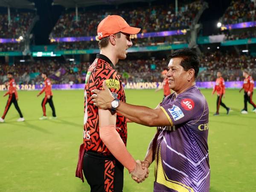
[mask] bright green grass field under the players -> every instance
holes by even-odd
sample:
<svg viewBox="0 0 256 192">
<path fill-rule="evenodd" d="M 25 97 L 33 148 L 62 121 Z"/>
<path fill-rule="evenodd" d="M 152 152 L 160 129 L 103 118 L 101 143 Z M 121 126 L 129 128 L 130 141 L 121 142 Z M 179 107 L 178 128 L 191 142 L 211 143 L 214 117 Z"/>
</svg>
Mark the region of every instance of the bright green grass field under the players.
<svg viewBox="0 0 256 192">
<path fill-rule="evenodd" d="M 243 94 L 227 90 L 223 102 L 233 110 L 227 116 L 215 112 L 216 95 L 202 90 L 209 105 L 209 158 L 211 192 L 256 191 L 256 113 L 240 114 Z M 53 101 L 58 119 L 43 120 L 38 92 L 19 91 L 19 105 L 25 122 L 12 106 L 6 122 L 0 124 L 0 191 L 4 192 L 89 192 L 88 184 L 75 177 L 83 133 L 83 90 L 55 90 Z M 0 92 L 2 95 L 3 92 Z M 162 93 L 154 90 L 126 90 L 127 102 L 154 108 Z M 2 115 L 7 98 L 0 97 Z M 254 95 L 254 101 L 256 96 Z M 252 106 L 249 105 L 248 111 Z M 47 105 L 47 115 L 51 115 Z M 128 125 L 128 150 L 143 159 L 155 128 Z M 140 184 L 125 170 L 124 192 L 153 191 L 154 165 L 149 178 Z"/>
</svg>

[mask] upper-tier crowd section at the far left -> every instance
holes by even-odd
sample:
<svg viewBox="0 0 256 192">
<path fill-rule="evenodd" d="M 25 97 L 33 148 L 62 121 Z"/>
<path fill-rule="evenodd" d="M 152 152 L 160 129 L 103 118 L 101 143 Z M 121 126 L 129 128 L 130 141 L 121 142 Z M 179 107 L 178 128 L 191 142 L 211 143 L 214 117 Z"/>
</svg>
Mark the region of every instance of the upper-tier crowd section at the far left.
<svg viewBox="0 0 256 192">
<path fill-rule="evenodd" d="M 0 14 L 0 37 L 24 37 L 34 17 L 35 14 L 32 12 L 11 12 L 11 22 L 9 25 L 8 14 Z"/>
</svg>

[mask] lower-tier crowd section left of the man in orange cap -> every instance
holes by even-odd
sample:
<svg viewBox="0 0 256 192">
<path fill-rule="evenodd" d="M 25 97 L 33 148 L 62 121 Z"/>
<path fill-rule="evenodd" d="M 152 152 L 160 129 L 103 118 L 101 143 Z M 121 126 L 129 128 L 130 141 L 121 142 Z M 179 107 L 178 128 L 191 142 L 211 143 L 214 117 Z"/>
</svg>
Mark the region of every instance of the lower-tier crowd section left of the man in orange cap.
<svg viewBox="0 0 256 192">
<path fill-rule="evenodd" d="M 7 81 L 8 72 L 14 73 L 17 84 L 41 84 L 40 74 L 48 73 L 54 84 L 83 83 L 88 63 L 73 64 L 57 60 L 33 61 L 29 63 L 15 63 L 13 65 L 0 64 L 0 84 Z"/>
</svg>

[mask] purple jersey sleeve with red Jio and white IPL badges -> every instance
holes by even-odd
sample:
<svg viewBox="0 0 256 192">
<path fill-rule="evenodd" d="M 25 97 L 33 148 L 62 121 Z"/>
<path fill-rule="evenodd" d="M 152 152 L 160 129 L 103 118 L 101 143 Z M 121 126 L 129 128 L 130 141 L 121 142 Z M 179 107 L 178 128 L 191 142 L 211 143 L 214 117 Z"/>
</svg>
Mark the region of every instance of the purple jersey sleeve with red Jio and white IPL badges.
<svg viewBox="0 0 256 192">
<path fill-rule="evenodd" d="M 189 122 L 192 119 L 200 119 L 204 113 L 204 103 L 192 96 L 180 96 L 173 102 L 160 106 L 171 126 Z"/>
</svg>

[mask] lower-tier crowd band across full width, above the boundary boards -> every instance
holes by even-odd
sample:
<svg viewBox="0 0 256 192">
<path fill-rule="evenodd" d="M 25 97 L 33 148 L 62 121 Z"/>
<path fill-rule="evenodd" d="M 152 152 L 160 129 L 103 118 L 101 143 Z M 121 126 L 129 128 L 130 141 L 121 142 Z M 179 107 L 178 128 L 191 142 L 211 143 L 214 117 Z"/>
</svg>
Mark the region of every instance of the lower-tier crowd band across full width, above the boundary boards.
<svg viewBox="0 0 256 192">
<path fill-rule="evenodd" d="M 230 53 L 207 53 L 201 56 L 201 67 L 197 81 L 215 81 L 216 73 L 221 71 L 225 81 L 242 81 L 241 69 L 250 69 L 256 79 L 256 58 L 249 55 Z M 8 71 L 14 72 L 18 84 L 40 84 L 39 75 L 47 71 L 55 84 L 84 83 L 90 62 L 75 64 L 70 61 L 39 60 L 29 64 L 0 64 L 0 84 L 3 84 Z M 116 65 L 124 82 L 162 81 L 161 71 L 166 69 L 167 61 L 159 59 L 120 60 Z M 61 72 L 60 72 L 61 71 Z M 59 73 L 59 74 L 58 74 Z"/>
</svg>

